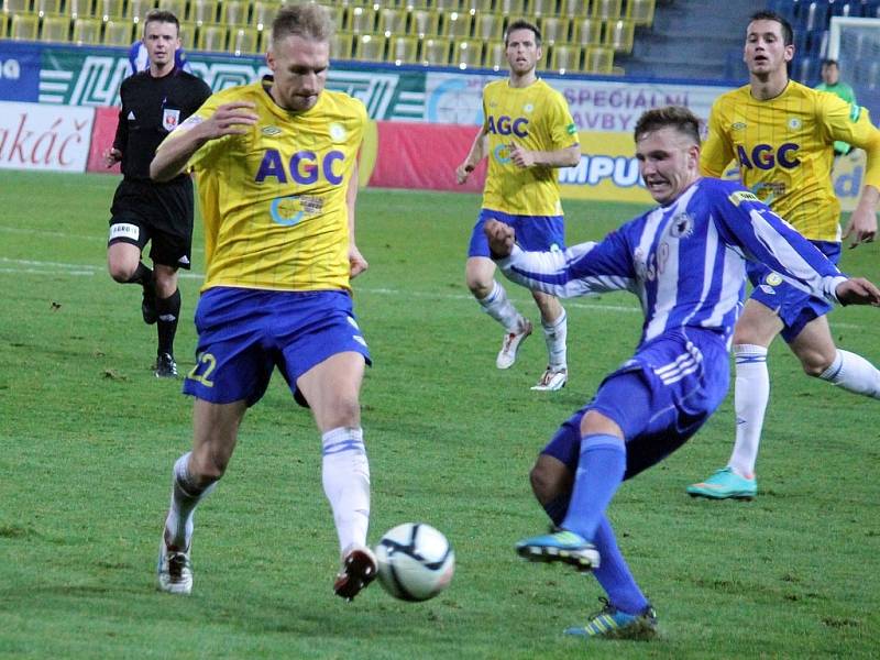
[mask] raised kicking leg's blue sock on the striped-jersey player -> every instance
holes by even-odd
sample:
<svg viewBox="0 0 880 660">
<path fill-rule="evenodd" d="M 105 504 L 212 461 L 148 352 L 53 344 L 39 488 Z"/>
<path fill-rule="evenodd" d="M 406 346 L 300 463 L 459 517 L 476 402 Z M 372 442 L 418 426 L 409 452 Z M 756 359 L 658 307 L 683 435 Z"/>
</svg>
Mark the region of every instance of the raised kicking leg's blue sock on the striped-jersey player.
<svg viewBox="0 0 880 660">
<path fill-rule="evenodd" d="M 581 458 L 562 527 L 592 541 L 605 509 L 626 472 L 626 444 L 622 438 L 584 436 Z"/>
</svg>

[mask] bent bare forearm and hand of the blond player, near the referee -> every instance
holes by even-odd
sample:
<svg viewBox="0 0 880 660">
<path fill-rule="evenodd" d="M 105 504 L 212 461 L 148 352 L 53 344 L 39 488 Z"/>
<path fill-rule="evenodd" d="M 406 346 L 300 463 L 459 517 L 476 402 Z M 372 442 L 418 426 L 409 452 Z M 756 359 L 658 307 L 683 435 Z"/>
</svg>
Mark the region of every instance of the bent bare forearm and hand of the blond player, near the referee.
<svg viewBox="0 0 880 660">
<path fill-rule="evenodd" d="M 186 169 L 189 158 L 206 142 L 224 135 L 245 134 L 258 119 L 255 113 L 249 112 L 254 108 L 256 106 L 250 101 L 226 103 L 209 119 L 186 129 L 182 135 L 163 142 L 150 164 L 150 178 L 156 182 L 170 180 Z"/>
</svg>

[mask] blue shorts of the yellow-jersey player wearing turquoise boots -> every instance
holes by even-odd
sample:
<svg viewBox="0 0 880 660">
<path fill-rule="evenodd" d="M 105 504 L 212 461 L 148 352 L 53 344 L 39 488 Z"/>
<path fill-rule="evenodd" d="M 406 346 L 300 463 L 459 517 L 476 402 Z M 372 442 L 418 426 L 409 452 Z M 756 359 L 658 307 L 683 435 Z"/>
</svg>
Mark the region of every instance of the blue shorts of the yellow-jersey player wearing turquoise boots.
<svg viewBox="0 0 880 660">
<path fill-rule="evenodd" d="M 840 243 L 828 241 L 810 241 L 820 252 L 828 257 L 833 264 L 840 261 Z M 746 272 L 755 289 L 750 298 L 765 307 L 769 307 L 779 315 L 784 324 L 782 339 L 791 343 L 810 321 L 828 314 L 834 305 L 822 298 L 805 294 L 794 288 L 780 275 L 773 273 L 763 264 L 748 262 Z"/>
</svg>

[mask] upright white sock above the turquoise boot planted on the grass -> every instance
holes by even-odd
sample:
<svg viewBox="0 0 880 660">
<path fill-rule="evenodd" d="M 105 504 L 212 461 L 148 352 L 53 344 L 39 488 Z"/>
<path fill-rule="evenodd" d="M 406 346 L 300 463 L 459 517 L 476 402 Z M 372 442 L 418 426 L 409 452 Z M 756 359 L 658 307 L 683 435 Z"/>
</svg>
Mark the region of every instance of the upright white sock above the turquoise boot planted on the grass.
<svg viewBox="0 0 880 660">
<path fill-rule="evenodd" d="M 752 477 L 761 442 L 763 416 L 770 399 L 770 374 L 767 371 L 767 349 L 752 344 L 734 346 L 736 380 L 736 443 L 727 464 L 739 476 Z"/>
</svg>

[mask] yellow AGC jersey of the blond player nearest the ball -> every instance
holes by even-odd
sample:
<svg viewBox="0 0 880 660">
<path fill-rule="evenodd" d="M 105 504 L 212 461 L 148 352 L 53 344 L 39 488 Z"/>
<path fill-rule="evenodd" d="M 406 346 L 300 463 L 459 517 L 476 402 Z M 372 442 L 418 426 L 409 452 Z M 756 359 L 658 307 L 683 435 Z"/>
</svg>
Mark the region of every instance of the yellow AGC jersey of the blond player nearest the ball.
<svg viewBox="0 0 880 660">
<path fill-rule="evenodd" d="M 205 221 L 201 290 L 350 290 L 345 194 L 366 109 L 324 90 L 314 108 L 293 113 L 272 100 L 270 86 L 267 77 L 215 94 L 168 135 L 232 101 L 252 101 L 260 118 L 246 134 L 211 140 L 189 161 Z"/>
</svg>

